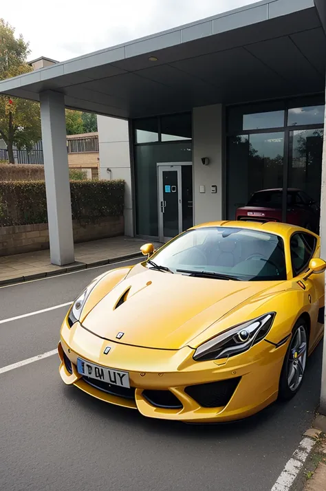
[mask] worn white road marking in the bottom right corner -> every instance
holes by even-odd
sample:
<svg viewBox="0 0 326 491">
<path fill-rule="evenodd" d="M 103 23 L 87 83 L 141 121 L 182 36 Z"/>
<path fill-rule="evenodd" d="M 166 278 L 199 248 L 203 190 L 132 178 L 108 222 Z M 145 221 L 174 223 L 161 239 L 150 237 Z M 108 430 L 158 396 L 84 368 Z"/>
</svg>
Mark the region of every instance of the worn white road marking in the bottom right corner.
<svg viewBox="0 0 326 491">
<path fill-rule="evenodd" d="M 309 437 L 304 437 L 301 440 L 298 448 L 293 453 L 291 459 L 287 461 L 285 468 L 279 475 L 279 479 L 277 479 L 271 491 L 290 490 L 294 483 L 294 479 L 296 479 L 309 453 L 312 451 L 312 448 L 314 448 L 315 443 L 316 441 Z"/>
</svg>

